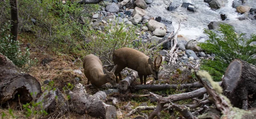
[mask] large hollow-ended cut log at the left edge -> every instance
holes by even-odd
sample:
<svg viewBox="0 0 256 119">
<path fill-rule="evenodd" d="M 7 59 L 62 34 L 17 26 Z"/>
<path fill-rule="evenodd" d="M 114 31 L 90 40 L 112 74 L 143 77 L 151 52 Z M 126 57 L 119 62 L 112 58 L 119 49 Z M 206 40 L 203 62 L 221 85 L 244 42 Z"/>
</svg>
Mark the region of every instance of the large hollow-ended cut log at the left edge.
<svg viewBox="0 0 256 119">
<path fill-rule="evenodd" d="M 36 78 L 29 74 L 21 73 L 12 61 L 0 53 L 1 104 L 10 100 L 18 102 L 18 99 L 22 104 L 26 104 L 41 93 L 41 85 Z"/>
</svg>

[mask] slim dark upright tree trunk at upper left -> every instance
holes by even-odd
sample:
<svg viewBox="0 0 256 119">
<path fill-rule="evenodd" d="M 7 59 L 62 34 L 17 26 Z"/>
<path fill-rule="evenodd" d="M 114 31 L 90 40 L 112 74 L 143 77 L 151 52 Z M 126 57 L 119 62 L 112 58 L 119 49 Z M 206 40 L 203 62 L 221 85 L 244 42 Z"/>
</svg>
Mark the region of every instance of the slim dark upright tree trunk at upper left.
<svg viewBox="0 0 256 119">
<path fill-rule="evenodd" d="M 18 0 L 10 0 L 11 5 L 11 33 L 13 35 L 12 40 L 17 41 L 18 29 L 19 29 L 19 15 L 18 15 Z"/>
</svg>

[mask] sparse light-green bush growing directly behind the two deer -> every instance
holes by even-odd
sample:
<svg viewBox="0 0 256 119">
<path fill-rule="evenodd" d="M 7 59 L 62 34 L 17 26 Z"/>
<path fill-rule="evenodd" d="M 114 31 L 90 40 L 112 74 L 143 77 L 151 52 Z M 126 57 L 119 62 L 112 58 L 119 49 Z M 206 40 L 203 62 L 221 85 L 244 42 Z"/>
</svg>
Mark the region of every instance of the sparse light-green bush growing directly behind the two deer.
<svg viewBox="0 0 256 119">
<path fill-rule="evenodd" d="M 87 54 L 99 57 L 102 64 L 112 64 L 112 54 L 115 49 L 132 47 L 132 41 L 137 38 L 136 27 L 124 24 L 105 26 L 101 31 L 96 29 L 84 30 L 87 42 Z"/>
</svg>

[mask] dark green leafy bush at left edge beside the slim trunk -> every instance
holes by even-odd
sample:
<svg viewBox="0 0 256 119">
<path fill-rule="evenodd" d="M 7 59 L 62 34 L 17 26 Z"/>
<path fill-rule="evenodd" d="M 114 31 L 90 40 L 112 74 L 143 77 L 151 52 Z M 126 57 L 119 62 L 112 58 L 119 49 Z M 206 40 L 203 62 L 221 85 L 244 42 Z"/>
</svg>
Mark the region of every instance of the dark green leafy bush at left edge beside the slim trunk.
<svg viewBox="0 0 256 119">
<path fill-rule="evenodd" d="M 10 23 L 3 23 L 0 27 L 0 53 L 9 58 L 16 66 L 22 67 L 25 64 L 30 66 L 35 62 L 29 58 L 29 48 L 25 48 L 22 52 L 19 41 L 10 41 L 12 35 L 10 33 Z"/>
</svg>

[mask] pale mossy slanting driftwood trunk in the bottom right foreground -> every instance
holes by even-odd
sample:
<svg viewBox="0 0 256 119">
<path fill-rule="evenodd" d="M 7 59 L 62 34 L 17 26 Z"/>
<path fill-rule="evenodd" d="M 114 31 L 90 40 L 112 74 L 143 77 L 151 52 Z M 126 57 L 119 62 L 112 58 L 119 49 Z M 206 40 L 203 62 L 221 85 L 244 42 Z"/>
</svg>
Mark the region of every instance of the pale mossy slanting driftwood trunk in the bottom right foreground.
<svg viewBox="0 0 256 119">
<path fill-rule="evenodd" d="M 221 119 L 254 119 L 256 115 L 256 110 L 242 110 L 237 107 L 233 107 L 230 101 L 222 95 L 222 88 L 212 80 L 211 75 L 206 71 L 195 71 L 195 75 L 198 77 L 201 84 L 207 90 L 209 97 L 212 102 L 215 103 L 215 106 L 218 110 L 221 111 L 222 116 Z M 204 116 L 198 116 L 199 119 L 206 119 Z M 216 119 L 215 116 L 213 118 L 207 119 Z M 217 117 L 218 118 L 218 117 Z M 219 119 L 219 118 L 218 118 Z"/>
</svg>

